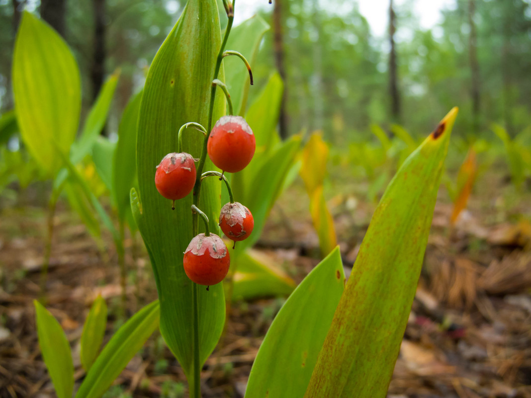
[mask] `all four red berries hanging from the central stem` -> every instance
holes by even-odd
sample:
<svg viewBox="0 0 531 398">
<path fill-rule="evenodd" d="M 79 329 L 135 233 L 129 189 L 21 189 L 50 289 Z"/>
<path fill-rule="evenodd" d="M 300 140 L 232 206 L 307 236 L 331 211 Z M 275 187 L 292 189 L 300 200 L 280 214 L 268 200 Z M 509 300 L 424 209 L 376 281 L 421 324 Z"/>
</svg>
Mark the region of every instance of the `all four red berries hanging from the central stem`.
<svg viewBox="0 0 531 398">
<path fill-rule="evenodd" d="M 207 142 L 210 160 L 224 172 L 243 170 L 253 158 L 255 147 L 256 140 L 249 124 L 243 117 L 232 115 L 218 120 Z M 157 166 L 155 186 L 162 196 L 175 202 L 192 192 L 196 178 L 191 154 L 168 153 Z M 234 242 L 244 240 L 253 230 L 253 216 L 243 204 L 231 200 L 221 209 L 219 226 Z M 190 241 L 183 263 L 188 278 L 209 286 L 225 278 L 230 257 L 224 241 L 207 229 Z"/>
</svg>

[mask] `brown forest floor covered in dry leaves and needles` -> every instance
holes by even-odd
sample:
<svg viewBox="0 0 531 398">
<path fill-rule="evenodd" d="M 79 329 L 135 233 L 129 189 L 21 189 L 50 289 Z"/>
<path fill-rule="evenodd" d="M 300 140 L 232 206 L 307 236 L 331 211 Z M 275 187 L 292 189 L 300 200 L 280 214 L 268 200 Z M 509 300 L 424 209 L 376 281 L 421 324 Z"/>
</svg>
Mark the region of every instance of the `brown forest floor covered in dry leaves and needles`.
<svg viewBox="0 0 531 398">
<path fill-rule="evenodd" d="M 500 195 L 495 187 L 503 184 L 498 179 L 476 187 L 469 210 L 451 229 L 452 206 L 441 188 L 389 397 L 531 398 L 531 224 L 519 217 L 531 214 L 531 201 L 512 200 L 507 184 L 503 189 L 509 194 Z M 297 204 L 290 200 L 295 195 L 301 197 Z M 375 204 L 352 194 L 333 197 L 329 204 L 348 274 Z M 302 187 L 288 189 L 258 244 L 297 282 L 319 261 L 307 205 Z M 55 396 L 38 347 L 32 302 L 39 296 L 44 207 L 27 203 L 0 209 L 0 398 Z M 54 223 L 47 308 L 71 343 L 79 385 L 84 376 L 79 341 L 93 299 L 100 294 L 107 300 L 108 340 L 125 317 L 157 294 L 140 238 L 126 239 L 124 310 L 112 240 L 104 236 L 107 247 L 98 247 L 62 202 Z M 203 368 L 205 398 L 243 397 L 256 352 L 284 300 L 233 304 L 226 333 Z M 158 332 L 106 395 L 127 396 L 187 396 L 183 371 Z"/>
</svg>

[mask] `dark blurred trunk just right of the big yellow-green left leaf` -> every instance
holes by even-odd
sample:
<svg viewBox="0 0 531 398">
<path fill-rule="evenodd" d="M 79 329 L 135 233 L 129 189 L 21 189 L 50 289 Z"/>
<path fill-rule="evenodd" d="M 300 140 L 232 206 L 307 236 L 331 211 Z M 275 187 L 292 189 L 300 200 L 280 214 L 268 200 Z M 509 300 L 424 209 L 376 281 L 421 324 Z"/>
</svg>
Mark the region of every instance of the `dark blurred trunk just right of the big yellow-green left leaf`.
<svg viewBox="0 0 531 398">
<path fill-rule="evenodd" d="M 94 58 L 92 59 L 92 99 L 98 97 L 105 77 L 105 0 L 92 0 L 94 9 Z"/>
</svg>

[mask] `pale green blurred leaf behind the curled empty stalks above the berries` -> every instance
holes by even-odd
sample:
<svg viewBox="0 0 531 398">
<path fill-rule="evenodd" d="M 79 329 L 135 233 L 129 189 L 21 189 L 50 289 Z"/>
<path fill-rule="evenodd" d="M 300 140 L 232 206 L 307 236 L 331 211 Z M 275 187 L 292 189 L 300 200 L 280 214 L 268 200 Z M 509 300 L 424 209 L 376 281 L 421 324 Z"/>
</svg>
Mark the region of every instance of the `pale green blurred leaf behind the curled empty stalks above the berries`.
<svg viewBox="0 0 531 398">
<path fill-rule="evenodd" d="M 268 23 L 260 15 L 255 15 L 230 31 L 225 49 L 238 51 L 247 59 L 252 68 L 256 54 L 258 54 L 260 41 L 268 30 Z M 236 115 L 243 116 L 245 114 L 247 93 L 250 88 L 249 72 L 247 72 L 242 60 L 236 56 L 225 57 L 223 65 L 225 68 L 225 84 L 229 90 L 234 111 Z"/>
</svg>

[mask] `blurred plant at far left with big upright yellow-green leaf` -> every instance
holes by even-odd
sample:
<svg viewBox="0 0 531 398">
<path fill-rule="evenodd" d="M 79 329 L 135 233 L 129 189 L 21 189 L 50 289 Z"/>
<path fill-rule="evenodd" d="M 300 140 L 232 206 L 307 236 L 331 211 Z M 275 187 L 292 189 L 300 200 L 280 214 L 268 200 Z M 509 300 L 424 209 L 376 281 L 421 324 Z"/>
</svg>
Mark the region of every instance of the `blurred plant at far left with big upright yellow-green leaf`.
<svg viewBox="0 0 531 398">
<path fill-rule="evenodd" d="M 41 45 L 42 40 L 47 42 L 46 47 Z M 24 12 L 13 56 L 16 119 L 32 159 L 48 178 L 54 179 L 48 201 L 47 239 L 41 269 L 43 298 L 55 207 L 57 198 L 65 187 L 73 208 L 81 215 L 89 231 L 99 233 L 99 225 L 90 217 L 93 213 L 99 214 L 112 233 L 118 251 L 121 250 L 121 242 L 113 223 L 74 166 L 89 153 L 105 124 L 117 79 L 118 75 L 114 74 L 105 83 L 85 120 L 79 140 L 74 141 L 81 109 L 78 65 L 64 40 L 48 24 Z"/>
</svg>

